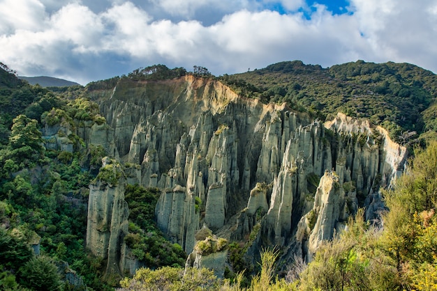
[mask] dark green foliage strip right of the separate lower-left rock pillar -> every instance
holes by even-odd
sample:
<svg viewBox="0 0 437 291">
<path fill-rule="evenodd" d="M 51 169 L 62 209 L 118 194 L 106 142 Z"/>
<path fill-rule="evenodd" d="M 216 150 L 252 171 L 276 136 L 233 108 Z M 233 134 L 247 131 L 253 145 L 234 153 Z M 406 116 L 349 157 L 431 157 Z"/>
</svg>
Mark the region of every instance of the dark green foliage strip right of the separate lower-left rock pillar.
<svg viewBox="0 0 437 291">
<path fill-rule="evenodd" d="M 124 241 L 136 258 L 147 267 L 183 267 L 186 253 L 179 244 L 172 244 L 161 233 L 154 221 L 158 189 L 126 185 L 125 200 L 129 205 L 129 234 Z"/>
</svg>

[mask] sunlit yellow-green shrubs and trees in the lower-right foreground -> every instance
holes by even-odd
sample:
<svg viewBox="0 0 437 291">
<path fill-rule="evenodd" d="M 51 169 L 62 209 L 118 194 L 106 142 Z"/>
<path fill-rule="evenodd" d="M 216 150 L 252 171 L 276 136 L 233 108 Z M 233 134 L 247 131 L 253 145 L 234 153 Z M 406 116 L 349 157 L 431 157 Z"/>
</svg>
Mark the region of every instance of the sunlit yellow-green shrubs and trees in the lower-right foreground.
<svg viewBox="0 0 437 291">
<path fill-rule="evenodd" d="M 434 142 L 416 153 L 408 175 L 399 178 L 395 189 L 385 192 L 390 210 L 383 215 L 384 228 L 364 221 L 364 210 L 360 209 L 355 219 L 348 222 L 348 231 L 320 246 L 313 261 L 299 269 L 293 281 L 274 278 L 278 253 L 264 251 L 260 273 L 251 278 L 249 287 L 242 288 L 239 274 L 235 283 L 228 280 L 221 283 L 222 290 L 436 290 L 436 178 L 437 143 Z M 242 251 L 242 246 L 234 243 L 230 248 L 231 260 Z M 177 272 L 168 269 L 165 274 Z M 141 277 L 142 273 L 147 276 Z M 211 280 L 220 282 L 214 277 Z M 133 288 L 135 283 L 135 288 L 154 290 L 159 283 L 172 290 L 172 284 L 184 282 L 181 275 L 170 280 L 159 270 L 142 269 L 133 279 L 125 278 L 121 284 Z M 199 290 L 204 290 L 197 284 Z"/>
</svg>

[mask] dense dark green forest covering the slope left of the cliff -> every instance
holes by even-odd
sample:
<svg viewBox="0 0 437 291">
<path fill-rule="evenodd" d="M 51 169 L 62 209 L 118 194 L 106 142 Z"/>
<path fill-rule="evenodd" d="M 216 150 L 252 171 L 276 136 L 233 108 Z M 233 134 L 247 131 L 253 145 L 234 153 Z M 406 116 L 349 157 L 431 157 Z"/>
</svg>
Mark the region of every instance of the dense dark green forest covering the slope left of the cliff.
<svg viewBox="0 0 437 291">
<path fill-rule="evenodd" d="M 107 290 L 101 263 L 84 249 L 87 193 L 93 177 L 80 165 L 86 152 L 83 143 L 73 134 L 68 139 L 77 143 L 75 152 L 42 146 L 40 122 L 74 129 L 69 113 L 75 112 L 77 102 L 14 76 L 2 80 L 0 111 L 8 113 L 0 112 L 0 127 L 7 129 L 0 134 L 0 289 L 72 290 L 60 281 L 56 267 L 64 260 L 90 288 Z M 18 114 L 23 112 L 26 115 Z M 39 244 L 40 256 L 34 255 L 30 244 Z"/>
</svg>

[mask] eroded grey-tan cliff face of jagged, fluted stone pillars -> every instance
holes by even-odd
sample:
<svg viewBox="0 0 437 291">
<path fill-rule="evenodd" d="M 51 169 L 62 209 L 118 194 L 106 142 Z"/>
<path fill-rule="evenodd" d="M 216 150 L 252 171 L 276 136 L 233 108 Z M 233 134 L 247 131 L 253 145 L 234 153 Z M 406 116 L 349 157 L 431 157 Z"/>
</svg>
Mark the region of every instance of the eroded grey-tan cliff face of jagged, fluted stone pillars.
<svg viewBox="0 0 437 291">
<path fill-rule="evenodd" d="M 158 226 L 187 253 L 203 223 L 228 239 L 244 239 L 260 223 L 256 246 L 311 256 L 357 207 L 378 216 L 378 189 L 406 160 L 382 128 L 342 114 L 324 125 L 285 105 L 238 97 L 212 79 L 121 79 L 91 95 L 109 127 L 87 140 L 126 163 L 125 182 L 162 190 Z M 124 215 L 91 209 L 108 196 L 97 191 L 108 189 L 91 188 L 89 217 Z M 110 240 L 98 239 L 87 244 L 99 249 Z"/>
</svg>

